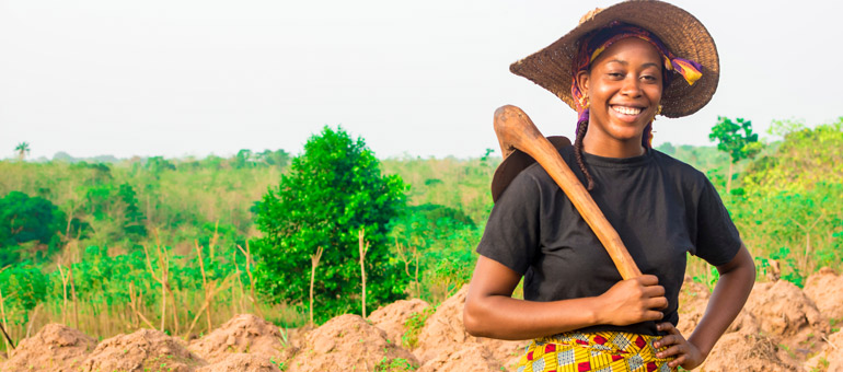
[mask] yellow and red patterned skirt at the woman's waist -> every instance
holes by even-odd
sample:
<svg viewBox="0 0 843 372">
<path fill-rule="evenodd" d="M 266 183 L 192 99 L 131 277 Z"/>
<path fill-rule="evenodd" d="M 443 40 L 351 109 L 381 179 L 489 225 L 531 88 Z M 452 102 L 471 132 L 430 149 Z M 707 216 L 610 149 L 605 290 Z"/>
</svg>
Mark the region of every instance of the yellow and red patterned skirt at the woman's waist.
<svg viewBox="0 0 843 372">
<path fill-rule="evenodd" d="M 656 358 L 659 336 L 570 332 L 534 339 L 517 372 L 674 372 L 673 358 Z M 666 348 L 663 348 L 666 349 Z"/>
</svg>

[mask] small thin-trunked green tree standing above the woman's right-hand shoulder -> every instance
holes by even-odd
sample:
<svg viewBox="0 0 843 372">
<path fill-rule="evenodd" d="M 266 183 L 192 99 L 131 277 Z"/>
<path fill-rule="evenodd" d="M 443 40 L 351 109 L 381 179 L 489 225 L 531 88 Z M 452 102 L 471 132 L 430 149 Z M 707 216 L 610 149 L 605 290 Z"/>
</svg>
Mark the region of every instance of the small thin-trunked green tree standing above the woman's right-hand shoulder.
<svg viewBox="0 0 843 372">
<path fill-rule="evenodd" d="M 729 174 L 726 177 L 726 193 L 731 191 L 731 178 L 735 164 L 743 159 L 752 159 L 761 152 L 762 144 L 758 141 L 758 133 L 752 132 L 752 121 L 737 118 L 735 121 L 725 117 L 717 117 L 717 125 L 712 127 L 708 139 L 717 141 L 717 149 L 729 154 Z"/>
</svg>

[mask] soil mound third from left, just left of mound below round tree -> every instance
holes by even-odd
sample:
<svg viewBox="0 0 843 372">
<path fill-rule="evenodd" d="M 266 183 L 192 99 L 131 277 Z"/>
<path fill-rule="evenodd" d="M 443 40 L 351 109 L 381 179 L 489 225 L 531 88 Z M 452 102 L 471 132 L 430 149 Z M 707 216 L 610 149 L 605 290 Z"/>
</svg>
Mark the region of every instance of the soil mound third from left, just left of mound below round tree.
<svg viewBox="0 0 843 372">
<path fill-rule="evenodd" d="M 244 352 L 268 361 L 278 357 L 284 348 L 282 340 L 276 325 L 252 314 L 239 314 L 207 336 L 192 341 L 187 349 L 210 363 Z"/>
</svg>

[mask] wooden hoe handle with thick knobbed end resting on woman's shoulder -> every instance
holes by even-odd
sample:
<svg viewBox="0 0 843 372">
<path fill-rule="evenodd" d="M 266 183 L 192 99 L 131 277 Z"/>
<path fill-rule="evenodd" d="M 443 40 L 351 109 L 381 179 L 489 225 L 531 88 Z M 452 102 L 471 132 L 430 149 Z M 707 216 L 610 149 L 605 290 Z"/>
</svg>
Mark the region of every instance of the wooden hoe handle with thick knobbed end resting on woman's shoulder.
<svg viewBox="0 0 843 372">
<path fill-rule="evenodd" d="M 603 212 L 591 199 L 591 195 L 582 186 L 558 151 L 535 128 L 530 117 L 521 108 L 506 105 L 495 111 L 495 132 L 500 143 L 504 156 L 513 149 L 521 150 L 535 161 L 551 175 L 568 199 L 603 244 L 612 257 L 617 270 L 624 279 L 639 277 L 642 271 L 635 265 L 630 252 L 621 241 L 621 236 L 605 219 Z"/>
</svg>

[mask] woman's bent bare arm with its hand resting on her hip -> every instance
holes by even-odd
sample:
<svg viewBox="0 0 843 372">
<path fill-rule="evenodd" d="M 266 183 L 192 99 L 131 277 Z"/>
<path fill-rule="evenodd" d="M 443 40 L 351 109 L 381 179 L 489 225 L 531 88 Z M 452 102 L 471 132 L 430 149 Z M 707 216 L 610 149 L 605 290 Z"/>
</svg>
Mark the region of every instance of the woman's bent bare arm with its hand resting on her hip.
<svg viewBox="0 0 843 372">
<path fill-rule="evenodd" d="M 755 264 L 747 247 L 741 244 L 740 251 L 729 263 L 717 266 L 720 279 L 714 288 L 705 314 L 696 325 L 688 341 L 672 324 L 659 324 L 659 330 L 670 335 L 656 342 L 656 347 L 672 345 L 659 356 L 678 356 L 671 367 L 682 365 L 690 370 L 702 364 L 714 344 L 723 336 L 726 328 L 738 316 L 755 282 Z"/>
</svg>

